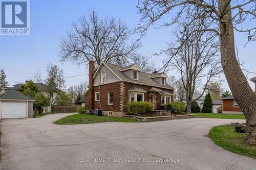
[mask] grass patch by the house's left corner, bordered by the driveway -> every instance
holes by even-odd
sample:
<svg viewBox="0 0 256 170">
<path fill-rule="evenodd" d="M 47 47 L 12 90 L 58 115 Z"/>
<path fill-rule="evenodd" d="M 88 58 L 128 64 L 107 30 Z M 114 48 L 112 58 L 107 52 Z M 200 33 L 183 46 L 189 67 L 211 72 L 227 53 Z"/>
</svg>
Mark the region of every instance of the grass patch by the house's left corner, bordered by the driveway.
<svg viewBox="0 0 256 170">
<path fill-rule="evenodd" d="M 55 122 L 58 125 L 73 125 L 73 124 L 95 124 L 101 122 L 128 122 L 136 123 L 137 120 L 124 117 L 112 117 L 112 116 L 95 116 L 88 114 L 73 114 L 67 117 L 63 117 Z"/>
</svg>

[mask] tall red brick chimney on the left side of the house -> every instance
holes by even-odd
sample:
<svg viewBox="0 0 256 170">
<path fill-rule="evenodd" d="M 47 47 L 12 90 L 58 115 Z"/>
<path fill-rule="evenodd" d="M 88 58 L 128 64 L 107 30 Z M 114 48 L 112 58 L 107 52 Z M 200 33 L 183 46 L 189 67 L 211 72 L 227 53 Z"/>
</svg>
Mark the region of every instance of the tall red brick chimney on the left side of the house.
<svg viewBox="0 0 256 170">
<path fill-rule="evenodd" d="M 95 69 L 95 62 L 93 60 L 93 58 L 91 59 L 91 61 L 89 61 L 89 86 L 88 86 L 88 92 L 85 96 L 85 104 L 86 107 L 89 108 L 89 112 L 93 110 L 93 99 L 94 99 L 94 89 L 93 89 L 93 76 L 94 76 L 94 69 Z"/>
</svg>

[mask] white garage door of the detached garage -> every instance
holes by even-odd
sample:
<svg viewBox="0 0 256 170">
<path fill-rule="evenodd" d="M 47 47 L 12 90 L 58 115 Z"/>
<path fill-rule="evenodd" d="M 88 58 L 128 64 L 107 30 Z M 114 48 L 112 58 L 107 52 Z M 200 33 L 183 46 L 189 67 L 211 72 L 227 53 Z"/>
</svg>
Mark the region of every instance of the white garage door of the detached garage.
<svg viewBox="0 0 256 170">
<path fill-rule="evenodd" d="M 26 118 L 27 102 L 2 102 L 2 118 Z"/>
</svg>

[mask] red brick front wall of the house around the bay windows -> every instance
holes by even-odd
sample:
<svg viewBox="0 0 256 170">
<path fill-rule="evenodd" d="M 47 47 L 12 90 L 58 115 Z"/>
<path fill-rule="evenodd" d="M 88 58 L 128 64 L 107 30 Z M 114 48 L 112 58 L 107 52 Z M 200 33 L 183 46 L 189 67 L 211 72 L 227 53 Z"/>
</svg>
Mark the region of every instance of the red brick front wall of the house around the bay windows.
<svg viewBox="0 0 256 170">
<path fill-rule="evenodd" d="M 129 102 L 129 88 L 131 86 L 140 86 L 143 90 L 148 91 L 148 89 L 150 89 L 152 86 L 145 86 L 145 85 L 137 85 L 137 84 L 132 84 L 132 83 L 124 83 L 124 104 L 127 104 Z M 174 93 L 174 90 L 169 90 L 169 89 L 164 89 L 164 88 L 159 88 L 160 90 L 167 90 L 170 93 Z M 160 109 L 161 106 L 161 94 L 160 93 L 156 93 L 157 94 L 157 104 L 156 104 L 156 110 Z M 148 102 L 148 97 L 150 96 L 150 94 L 148 92 L 144 93 L 144 101 Z M 173 102 L 173 95 L 171 96 L 171 101 Z"/>
</svg>

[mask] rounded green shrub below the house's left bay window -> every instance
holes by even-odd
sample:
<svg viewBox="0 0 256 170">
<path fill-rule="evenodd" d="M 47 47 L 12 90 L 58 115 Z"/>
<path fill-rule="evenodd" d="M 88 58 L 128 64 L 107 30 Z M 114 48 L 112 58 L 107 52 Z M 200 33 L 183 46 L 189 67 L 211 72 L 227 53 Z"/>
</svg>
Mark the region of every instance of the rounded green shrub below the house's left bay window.
<svg viewBox="0 0 256 170">
<path fill-rule="evenodd" d="M 154 106 L 151 102 L 131 102 L 124 106 L 125 111 L 129 111 L 132 113 L 146 113 L 148 111 L 152 111 Z"/>
</svg>

